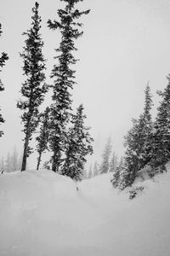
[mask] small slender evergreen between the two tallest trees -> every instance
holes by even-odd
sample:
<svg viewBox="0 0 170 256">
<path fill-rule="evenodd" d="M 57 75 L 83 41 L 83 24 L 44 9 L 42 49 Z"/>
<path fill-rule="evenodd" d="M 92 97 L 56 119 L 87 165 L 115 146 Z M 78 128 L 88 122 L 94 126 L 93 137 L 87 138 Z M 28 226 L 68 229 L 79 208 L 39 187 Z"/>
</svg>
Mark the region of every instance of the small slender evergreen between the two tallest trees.
<svg viewBox="0 0 170 256">
<path fill-rule="evenodd" d="M 48 137 L 49 137 L 49 108 L 46 108 L 41 117 L 40 134 L 37 139 L 37 170 L 39 169 L 42 153 L 48 149 Z"/>
</svg>

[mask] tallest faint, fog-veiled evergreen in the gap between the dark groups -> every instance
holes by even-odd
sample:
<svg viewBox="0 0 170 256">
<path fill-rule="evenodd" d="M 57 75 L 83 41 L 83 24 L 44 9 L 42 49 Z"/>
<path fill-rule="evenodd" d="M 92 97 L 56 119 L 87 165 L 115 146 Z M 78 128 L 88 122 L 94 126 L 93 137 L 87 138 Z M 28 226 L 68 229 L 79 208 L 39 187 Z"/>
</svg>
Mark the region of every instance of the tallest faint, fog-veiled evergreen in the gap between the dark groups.
<svg viewBox="0 0 170 256">
<path fill-rule="evenodd" d="M 111 156 L 111 137 L 108 138 L 108 141 L 105 145 L 104 152 L 102 154 L 102 163 L 100 166 L 100 173 L 109 172 L 110 168 L 110 156 Z"/>
</svg>

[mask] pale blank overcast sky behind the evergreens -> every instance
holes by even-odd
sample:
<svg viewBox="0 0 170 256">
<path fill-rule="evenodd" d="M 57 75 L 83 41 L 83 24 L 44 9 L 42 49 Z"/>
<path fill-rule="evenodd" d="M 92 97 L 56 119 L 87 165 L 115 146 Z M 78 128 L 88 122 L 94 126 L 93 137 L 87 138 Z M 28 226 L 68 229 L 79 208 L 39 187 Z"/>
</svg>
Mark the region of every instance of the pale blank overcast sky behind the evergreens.
<svg viewBox="0 0 170 256">
<path fill-rule="evenodd" d="M 31 25 L 33 0 L 5 0 L 0 2 L 0 22 L 3 37 L 0 51 L 10 60 L 3 67 L 1 78 L 5 91 L 0 94 L 0 105 L 6 119 L 0 138 L 0 156 L 6 157 L 16 145 L 21 151 L 23 137 L 20 109 L 22 51 Z M 47 20 L 56 17 L 59 0 L 41 0 L 42 38 L 44 55 L 48 59 L 47 78 L 53 67 L 54 48 L 59 46 L 59 32 L 48 30 Z M 81 9 L 91 9 L 82 18 L 84 35 L 78 39 L 77 86 L 73 90 L 74 108 L 84 104 L 95 140 L 94 158 L 98 158 L 106 138 L 111 135 L 115 151 L 122 154 L 123 136 L 131 127 L 131 119 L 144 108 L 144 88 L 148 81 L 154 97 L 156 90 L 167 85 L 170 72 L 170 1 L 167 0 L 84 0 Z M 49 82 L 50 80 L 47 79 Z M 50 81 L 52 83 L 52 81 Z M 48 97 L 50 102 L 50 97 Z"/>
</svg>

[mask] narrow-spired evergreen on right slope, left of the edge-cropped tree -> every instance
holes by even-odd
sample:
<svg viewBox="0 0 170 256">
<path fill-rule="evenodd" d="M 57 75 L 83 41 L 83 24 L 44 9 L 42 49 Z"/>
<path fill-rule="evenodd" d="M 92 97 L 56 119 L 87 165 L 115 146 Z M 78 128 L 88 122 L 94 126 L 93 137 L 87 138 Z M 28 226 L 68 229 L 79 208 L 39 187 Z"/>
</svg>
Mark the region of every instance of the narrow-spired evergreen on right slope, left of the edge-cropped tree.
<svg viewBox="0 0 170 256">
<path fill-rule="evenodd" d="M 152 99 L 149 84 L 147 84 L 144 94 L 144 113 L 139 116 L 139 119 L 133 119 L 133 127 L 125 137 L 126 152 L 124 168 L 120 174 L 120 189 L 130 186 L 137 177 L 139 170 L 150 162 L 153 125 L 150 114 Z"/>
</svg>

